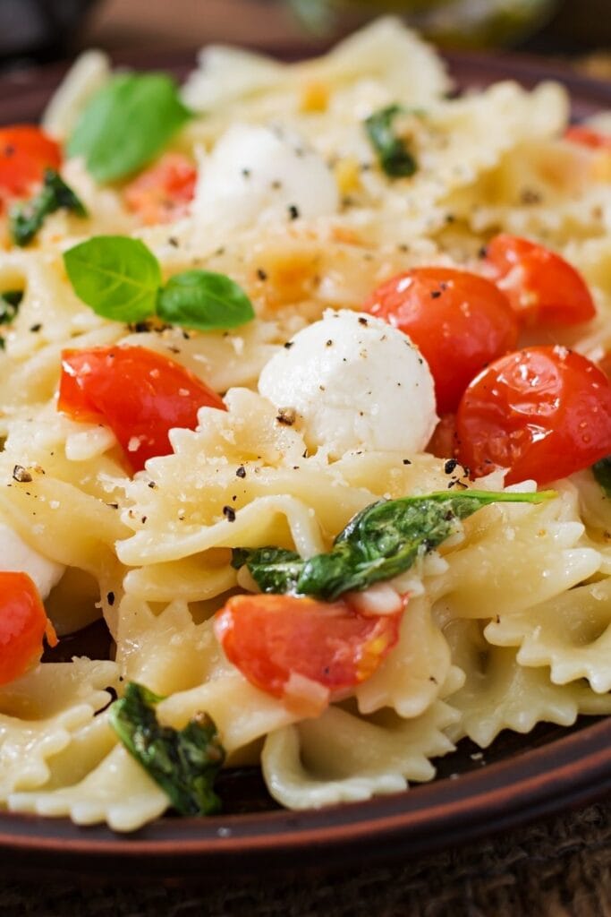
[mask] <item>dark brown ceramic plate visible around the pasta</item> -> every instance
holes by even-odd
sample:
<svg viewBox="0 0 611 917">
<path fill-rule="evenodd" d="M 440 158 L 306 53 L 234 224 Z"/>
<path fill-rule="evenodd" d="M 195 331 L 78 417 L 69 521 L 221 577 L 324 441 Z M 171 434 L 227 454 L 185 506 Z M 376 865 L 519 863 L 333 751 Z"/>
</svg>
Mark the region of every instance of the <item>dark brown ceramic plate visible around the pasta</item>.
<svg viewBox="0 0 611 917">
<path fill-rule="evenodd" d="M 179 76 L 189 53 L 129 55 L 117 62 L 166 69 Z M 611 83 L 580 77 L 562 64 L 498 55 L 453 55 L 461 86 L 514 78 L 531 86 L 557 79 L 573 98 L 579 119 L 611 108 Z M 0 78 L 0 123 L 36 119 L 61 75 L 60 68 L 16 72 Z M 97 636 L 93 630 L 93 646 Z M 71 656 L 62 641 L 64 652 Z M 82 644 L 78 647 L 86 652 Z M 611 718 L 580 720 L 571 730 L 540 725 L 529 735 L 505 733 L 485 756 L 468 742 L 439 762 L 438 778 L 409 792 L 312 812 L 279 811 L 254 769 L 227 771 L 219 791 L 224 814 L 208 819 L 160 819 L 129 836 L 102 827 L 80 828 L 65 819 L 0 814 L 0 853 L 5 868 L 76 874 L 182 878 L 211 869 L 240 874 L 328 867 L 362 859 L 416 854 L 464 843 L 611 790 Z M 475 758 L 472 757 L 475 755 Z"/>
</svg>

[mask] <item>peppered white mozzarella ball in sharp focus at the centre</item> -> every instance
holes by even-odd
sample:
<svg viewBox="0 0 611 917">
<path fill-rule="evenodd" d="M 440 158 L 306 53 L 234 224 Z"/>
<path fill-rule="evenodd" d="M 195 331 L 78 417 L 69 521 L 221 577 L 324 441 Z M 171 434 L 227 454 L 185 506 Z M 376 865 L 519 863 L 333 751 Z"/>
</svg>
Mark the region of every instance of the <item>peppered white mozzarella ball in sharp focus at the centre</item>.
<svg viewBox="0 0 611 917">
<path fill-rule="evenodd" d="M 437 424 L 431 370 L 382 319 L 327 310 L 263 368 L 259 392 L 292 408 L 309 448 L 423 451 Z"/>
</svg>

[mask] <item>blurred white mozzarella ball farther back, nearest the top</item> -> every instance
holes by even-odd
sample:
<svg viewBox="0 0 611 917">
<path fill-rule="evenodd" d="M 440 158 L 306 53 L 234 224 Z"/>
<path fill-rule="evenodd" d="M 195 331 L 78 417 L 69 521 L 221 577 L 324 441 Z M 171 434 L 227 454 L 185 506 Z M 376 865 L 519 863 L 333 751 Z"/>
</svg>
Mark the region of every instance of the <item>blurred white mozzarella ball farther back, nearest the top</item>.
<svg viewBox="0 0 611 917">
<path fill-rule="evenodd" d="M 202 161 L 192 213 L 218 231 L 333 214 L 338 205 L 332 172 L 299 136 L 235 124 Z"/>
</svg>

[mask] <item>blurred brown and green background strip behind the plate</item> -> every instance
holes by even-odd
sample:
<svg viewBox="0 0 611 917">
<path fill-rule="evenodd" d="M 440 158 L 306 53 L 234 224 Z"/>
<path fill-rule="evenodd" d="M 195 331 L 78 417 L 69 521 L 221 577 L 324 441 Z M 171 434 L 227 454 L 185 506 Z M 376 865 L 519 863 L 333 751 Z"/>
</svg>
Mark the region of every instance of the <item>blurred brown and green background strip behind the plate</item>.
<svg viewBox="0 0 611 917">
<path fill-rule="evenodd" d="M 611 79 L 611 0 L 0 0 L 0 69 L 92 46 L 153 52 L 221 40 L 298 53 L 384 12 L 446 48 L 571 55 Z"/>
</svg>

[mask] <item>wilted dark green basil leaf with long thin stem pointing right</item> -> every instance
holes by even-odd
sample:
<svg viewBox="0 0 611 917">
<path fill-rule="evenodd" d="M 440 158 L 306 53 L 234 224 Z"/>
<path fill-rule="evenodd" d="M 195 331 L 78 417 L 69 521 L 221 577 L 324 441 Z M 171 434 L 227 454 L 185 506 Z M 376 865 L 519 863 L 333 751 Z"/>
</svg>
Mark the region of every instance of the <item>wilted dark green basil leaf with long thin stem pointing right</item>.
<svg viewBox="0 0 611 917">
<path fill-rule="evenodd" d="M 277 547 L 235 548 L 233 564 L 246 564 L 264 592 L 296 592 L 333 602 L 347 591 L 363 591 L 392 580 L 439 547 L 458 523 L 490 503 L 541 503 L 555 496 L 539 493 L 443 491 L 372 503 L 346 525 L 331 551 L 302 560 Z"/>
</svg>

